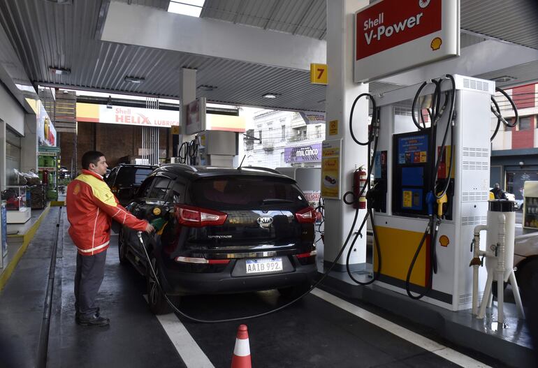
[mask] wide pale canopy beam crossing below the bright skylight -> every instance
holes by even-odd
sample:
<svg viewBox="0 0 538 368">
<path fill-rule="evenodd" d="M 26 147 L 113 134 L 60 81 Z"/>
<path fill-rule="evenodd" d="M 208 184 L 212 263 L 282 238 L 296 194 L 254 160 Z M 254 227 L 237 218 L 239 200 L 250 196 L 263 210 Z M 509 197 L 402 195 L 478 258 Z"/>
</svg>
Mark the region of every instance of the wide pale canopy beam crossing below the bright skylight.
<svg viewBox="0 0 538 368">
<path fill-rule="evenodd" d="M 101 41 L 310 71 L 326 41 L 112 1 Z"/>
</svg>

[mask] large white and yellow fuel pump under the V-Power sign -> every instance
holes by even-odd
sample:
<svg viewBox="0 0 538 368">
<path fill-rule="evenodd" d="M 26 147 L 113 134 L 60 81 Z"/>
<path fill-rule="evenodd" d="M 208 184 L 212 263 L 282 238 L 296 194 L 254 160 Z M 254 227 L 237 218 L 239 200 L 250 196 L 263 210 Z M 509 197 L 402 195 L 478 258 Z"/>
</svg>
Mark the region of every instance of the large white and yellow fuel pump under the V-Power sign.
<svg viewBox="0 0 538 368">
<path fill-rule="evenodd" d="M 435 117 L 428 116 L 436 89 L 437 108 L 446 107 L 435 124 L 437 133 L 431 128 Z M 453 83 L 439 78 L 376 98 L 381 134 L 374 165 L 374 216 L 383 265 L 375 285 L 423 294 L 423 301 L 452 311 L 471 307 L 470 242 L 474 227 L 486 224 L 488 212 L 493 94 L 495 82 L 453 75 Z M 452 119 L 447 99 L 454 101 Z M 421 115 L 422 128 L 412 114 Z M 445 132 L 449 132 L 447 138 Z M 428 209 L 431 188 L 444 188 L 446 196 L 436 198 Z M 439 219 L 435 237 L 426 234 L 432 211 Z M 485 270 L 480 272 L 485 274 Z M 486 277 L 480 279 L 479 289 L 484 290 Z"/>
</svg>

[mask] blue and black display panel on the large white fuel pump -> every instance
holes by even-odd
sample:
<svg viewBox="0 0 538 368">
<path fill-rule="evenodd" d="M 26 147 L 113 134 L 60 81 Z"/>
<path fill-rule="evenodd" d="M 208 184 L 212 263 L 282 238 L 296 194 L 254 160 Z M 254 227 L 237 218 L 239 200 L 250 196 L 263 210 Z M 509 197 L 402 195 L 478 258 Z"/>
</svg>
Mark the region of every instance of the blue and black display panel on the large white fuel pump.
<svg viewBox="0 0 538 368">
<path fill-rule="evenodd" d="M 393 212 L 412 216 L 428 214 L 429 131 L 394 135 Z"/>
</svg>

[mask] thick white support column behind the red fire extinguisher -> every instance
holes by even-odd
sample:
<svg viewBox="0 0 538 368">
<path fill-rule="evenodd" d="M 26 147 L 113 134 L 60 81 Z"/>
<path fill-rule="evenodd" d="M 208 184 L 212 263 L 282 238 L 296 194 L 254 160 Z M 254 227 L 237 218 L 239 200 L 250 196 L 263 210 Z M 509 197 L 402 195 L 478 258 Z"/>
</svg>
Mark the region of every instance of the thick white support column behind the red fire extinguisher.
<svg viewBox="0 0 538 368">
<path fill-rule="evenodd" d="M 357 145 L 349 133 L 349 112 L 351 105 L 359 94 L 368 92 L 368 84 L 354 84 L 354 13 L 368 6 L 368 0 L 331 0 L 327 1 L 327 64 L 328 85 L 326 92 L 326 121 L 337 120 L 338 133 L 330 135 L 330 124 L 326 124 L 326 140 L 342 138 L 340 154 L 340 196 L 351 191 L 351 181 L 356 168 L 368 164 L 368 149 Z M 354 110 L 354 134 L 358 140 L 365 142 L 368 136 L 368 100 L 361 98 Z M 348 197 L 351 199 L 351 196 Z M 346 205 L 342 199 L 326 200 L 325 242 L 323 260 L 326 265 L 331 263 L 342 248 L 353 223 L 355 209 Z M 365 209 L 359 210 L 354 231 L 366 214 Z M 351 244 L 351 236 L 348 246 Z M 337 260 L 334 270 L 345 271 L 347 250 Z M 351 270 L 366 260 L 366 227 L 363 237 L 358 238 L 354 245 L 349 263 Z"/>
</svg>

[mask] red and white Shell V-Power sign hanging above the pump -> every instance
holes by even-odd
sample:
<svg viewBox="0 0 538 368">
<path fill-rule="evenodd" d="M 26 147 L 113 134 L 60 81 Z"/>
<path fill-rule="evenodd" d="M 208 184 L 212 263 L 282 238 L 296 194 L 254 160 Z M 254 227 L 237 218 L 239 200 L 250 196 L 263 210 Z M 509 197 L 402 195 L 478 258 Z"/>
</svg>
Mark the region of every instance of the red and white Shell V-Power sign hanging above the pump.
<svg viewBox="0 0 538 368">
<path fill-rule="evenodd" d="M 355 13 L 354 81 L 460 54 L 459 0 L 382 0 Z"/>
</svg>

